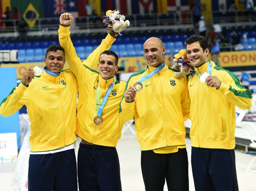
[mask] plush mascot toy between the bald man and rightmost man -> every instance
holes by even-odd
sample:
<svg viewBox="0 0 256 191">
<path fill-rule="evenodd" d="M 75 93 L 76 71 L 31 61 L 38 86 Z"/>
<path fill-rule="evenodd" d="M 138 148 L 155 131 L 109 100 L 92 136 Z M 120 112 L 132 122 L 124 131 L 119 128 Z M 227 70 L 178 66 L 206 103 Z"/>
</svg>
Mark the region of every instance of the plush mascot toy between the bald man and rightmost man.
<svg viewBox="0 0 256 191">
<path fill-rule="evenodd" d="M 179 51 L 179 53 L 175 54 L 173 57 L 173 61 L 175 63 L 173 69 L 179 71 L 174 73 L 174 76 L 176 78 L 180 76 L 186 76 L 188 74 L 193 76 L 193 74 L 195 73 L 194 66 L 192 66 L 189 60 L 187 59 L 186 50 L 182 49 Z"/>
</svg>

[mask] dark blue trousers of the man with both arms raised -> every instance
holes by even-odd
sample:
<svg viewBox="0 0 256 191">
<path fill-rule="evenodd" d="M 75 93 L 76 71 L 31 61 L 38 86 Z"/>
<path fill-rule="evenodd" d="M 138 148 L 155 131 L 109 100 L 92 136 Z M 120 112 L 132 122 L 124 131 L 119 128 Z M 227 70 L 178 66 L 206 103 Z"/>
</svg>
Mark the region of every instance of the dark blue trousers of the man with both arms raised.
<svg viewBox="0 0 256 191">
<path fill-rule="evenodd" d="M 80 143 L 77 173 L 79 191 L 122 191 L 115 147 Z"/>
</svg>

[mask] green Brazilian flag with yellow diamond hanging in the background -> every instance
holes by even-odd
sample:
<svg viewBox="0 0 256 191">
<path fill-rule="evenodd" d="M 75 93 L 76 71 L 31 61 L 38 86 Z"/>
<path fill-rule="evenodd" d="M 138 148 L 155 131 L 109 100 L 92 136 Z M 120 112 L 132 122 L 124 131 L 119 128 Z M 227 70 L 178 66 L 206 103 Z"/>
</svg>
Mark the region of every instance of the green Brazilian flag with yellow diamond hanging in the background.
<svg viewBox="0 0 256 191">
<path fill-rule="evenodd" d="M 11 7 L 18 8 L 20 18 L 24 18 L 31 28 L 42 16 L 42 0 L 11 0 Z"/>
</svg>

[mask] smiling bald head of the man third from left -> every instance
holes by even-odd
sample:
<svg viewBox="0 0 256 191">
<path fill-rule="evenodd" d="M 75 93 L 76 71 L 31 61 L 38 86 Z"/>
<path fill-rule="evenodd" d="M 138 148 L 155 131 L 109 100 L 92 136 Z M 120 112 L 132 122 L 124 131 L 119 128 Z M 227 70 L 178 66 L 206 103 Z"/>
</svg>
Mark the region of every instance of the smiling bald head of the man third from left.
<svg viewBox="0 0 256 191">
<path fill-rule="evenodd" d="M 159 66 L 164 60 L 165 47 L 163 42 L 156 37 L 151 37 L 144 43 L 144 56 L 149 66 Z"/>
</svg>

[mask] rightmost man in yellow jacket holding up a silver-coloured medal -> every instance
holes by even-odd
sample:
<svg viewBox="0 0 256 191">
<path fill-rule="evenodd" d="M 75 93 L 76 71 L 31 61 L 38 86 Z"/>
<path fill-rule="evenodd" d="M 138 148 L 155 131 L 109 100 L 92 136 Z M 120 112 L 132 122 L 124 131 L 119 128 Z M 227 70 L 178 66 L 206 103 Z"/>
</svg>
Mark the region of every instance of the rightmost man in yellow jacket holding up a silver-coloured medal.
<svg viewBox="0 0 256 191">
<path fill-rule="evenodd" d="M 252 95 L 232 72 L 208 60 L 208 41 L 185 42 L 196 74 L 188 77 L 191 99 L 191 164 L 196 191 L 238 190 L 235 166 L 236 109 L 250 109 Z"/>
</svg>

